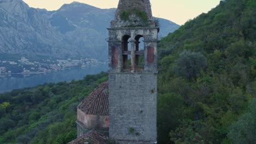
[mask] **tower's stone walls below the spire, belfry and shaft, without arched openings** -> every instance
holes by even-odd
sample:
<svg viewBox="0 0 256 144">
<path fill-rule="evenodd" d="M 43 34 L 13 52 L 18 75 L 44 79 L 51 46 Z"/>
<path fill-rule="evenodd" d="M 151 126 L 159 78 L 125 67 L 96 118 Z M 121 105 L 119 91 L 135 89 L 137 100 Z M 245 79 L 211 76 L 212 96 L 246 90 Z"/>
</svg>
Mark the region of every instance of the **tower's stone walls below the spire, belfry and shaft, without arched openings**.
<svg viewBox="0 0 256 144">
<path fill-rule="evenodd" d="M 119 143 L 156 142 L 158 28 L 109 28 L 109 136 Z M 144 38 L 144 69 L 124 72 L 124 35 Z"/>
</svg>

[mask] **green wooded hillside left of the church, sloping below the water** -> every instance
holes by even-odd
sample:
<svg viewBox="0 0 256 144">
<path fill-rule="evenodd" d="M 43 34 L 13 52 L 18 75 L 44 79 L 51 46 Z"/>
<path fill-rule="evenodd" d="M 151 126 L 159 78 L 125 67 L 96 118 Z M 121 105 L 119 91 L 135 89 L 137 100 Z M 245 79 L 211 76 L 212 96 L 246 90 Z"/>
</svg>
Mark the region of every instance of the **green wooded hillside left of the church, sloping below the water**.
<svg viewBox="0 0 256 144">
<path fill-rule="evenodd" d="M 77 137 L 77 105 L 107 73 L 0 94 L 0 143 L 67 143 Z"/>
</svg>

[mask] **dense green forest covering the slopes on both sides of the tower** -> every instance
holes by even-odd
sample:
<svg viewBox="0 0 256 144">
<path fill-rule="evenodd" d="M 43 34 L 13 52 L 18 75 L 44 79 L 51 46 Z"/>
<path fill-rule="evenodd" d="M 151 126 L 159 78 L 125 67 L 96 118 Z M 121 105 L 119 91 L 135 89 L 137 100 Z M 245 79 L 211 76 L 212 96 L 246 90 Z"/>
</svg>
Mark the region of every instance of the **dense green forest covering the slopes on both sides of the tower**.
<svg viewBox="0 0 256 144">
<path fill-rule="evenodd" d="M 256 1 L 220 1 L 158 53 L 158 143 L 256 143 Z M 0 94 L 0 143 L 75 139 L 76 106 L 107 75 Z"/>
</svg>

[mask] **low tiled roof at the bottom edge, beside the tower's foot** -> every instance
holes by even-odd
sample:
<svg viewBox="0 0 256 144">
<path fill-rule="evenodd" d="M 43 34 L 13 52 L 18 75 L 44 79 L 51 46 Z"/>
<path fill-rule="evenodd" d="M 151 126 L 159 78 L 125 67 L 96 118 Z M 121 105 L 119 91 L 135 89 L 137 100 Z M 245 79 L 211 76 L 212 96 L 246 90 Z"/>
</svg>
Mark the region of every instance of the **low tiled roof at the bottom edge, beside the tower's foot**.
<svg viewBox="0 0 256 144">
<path fill-rule="evenodd" d="M 108 138 L 95 130 L 91 130 L 83 136 L 80 136 L 77 139 L 68 142 L 68 144 L 84 144 L 85 142 L 94 144 L 107 144 Z"/>
</svg>

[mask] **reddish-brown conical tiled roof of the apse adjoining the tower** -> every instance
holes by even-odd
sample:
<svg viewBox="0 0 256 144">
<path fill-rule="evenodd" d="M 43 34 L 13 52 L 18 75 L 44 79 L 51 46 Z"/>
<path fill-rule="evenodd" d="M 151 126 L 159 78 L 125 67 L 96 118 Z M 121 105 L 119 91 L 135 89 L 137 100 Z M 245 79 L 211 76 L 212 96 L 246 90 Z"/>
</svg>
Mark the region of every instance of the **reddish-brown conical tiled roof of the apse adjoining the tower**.
<svg viewBox="0 0 256 144">
<path fill-rule="evenodd" d="M 77 108 L 86 114 L 108 116 L 108 82 L 95 88 Z"/>
</svg>

